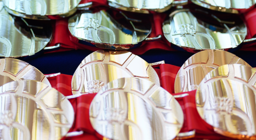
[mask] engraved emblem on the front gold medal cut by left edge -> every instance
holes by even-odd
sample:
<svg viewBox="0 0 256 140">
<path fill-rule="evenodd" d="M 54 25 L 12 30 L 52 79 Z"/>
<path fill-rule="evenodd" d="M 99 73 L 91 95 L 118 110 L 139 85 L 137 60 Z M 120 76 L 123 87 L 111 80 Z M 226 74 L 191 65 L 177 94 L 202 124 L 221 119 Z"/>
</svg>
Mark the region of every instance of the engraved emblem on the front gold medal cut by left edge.
<svg viewBox="0 0 256 140">
<path fill-rule="evenodd" d="M 6 110 L 0 113 L 0 124 L 11 127 L 13 122 L 13 114 L 11 111 Z"/>
</svg>

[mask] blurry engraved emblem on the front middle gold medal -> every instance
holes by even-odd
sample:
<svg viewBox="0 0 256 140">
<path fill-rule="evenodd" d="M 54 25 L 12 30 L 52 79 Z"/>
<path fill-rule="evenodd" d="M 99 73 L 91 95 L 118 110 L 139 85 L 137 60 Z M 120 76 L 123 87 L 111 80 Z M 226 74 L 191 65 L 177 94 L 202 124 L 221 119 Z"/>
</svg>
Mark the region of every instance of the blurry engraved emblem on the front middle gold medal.
<svg viewBox="0 0 256 140">
<path fill-rule="evenodd" d="M 108 123 L 117 122 L 122 124 L 125 118 L 125 111 L 121 108 L 109 108 L 106 112 L 106 120 Z"/>
</svg>

